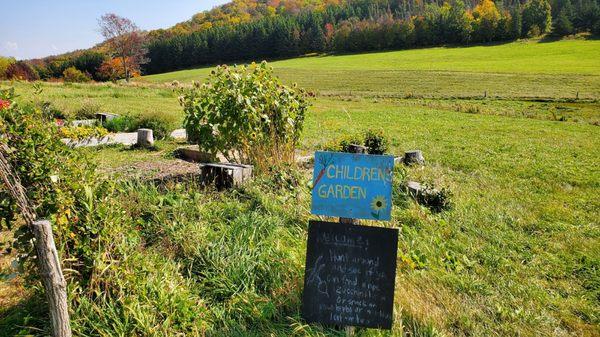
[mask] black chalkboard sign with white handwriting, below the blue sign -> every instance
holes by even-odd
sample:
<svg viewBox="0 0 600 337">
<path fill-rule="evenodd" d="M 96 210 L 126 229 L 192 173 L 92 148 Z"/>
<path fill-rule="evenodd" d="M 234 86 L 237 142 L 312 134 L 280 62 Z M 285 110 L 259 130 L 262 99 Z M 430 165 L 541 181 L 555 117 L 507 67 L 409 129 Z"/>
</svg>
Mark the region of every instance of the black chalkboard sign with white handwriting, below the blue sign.
<svg viewBox="0 0 600 337">
<path fill-rule="evenodd" d="M 311 221 L 302 313 L 307 322 L 391 329 L 398 230 Z"/>
</svg>

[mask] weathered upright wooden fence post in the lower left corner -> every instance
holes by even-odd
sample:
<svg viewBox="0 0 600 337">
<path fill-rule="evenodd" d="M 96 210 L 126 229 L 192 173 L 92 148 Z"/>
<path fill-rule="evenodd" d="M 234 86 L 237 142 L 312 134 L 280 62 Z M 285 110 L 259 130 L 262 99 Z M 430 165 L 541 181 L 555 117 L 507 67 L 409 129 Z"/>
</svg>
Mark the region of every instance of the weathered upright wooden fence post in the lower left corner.
<svg viewBox="0 0 600 337">
<path fill-rule="evenodd" d="M 60 267 L 60 259 L 50 221 L 35 221 L 32 226 L 35 236 L 39 273 L 46 290 L 50 309 L 52 332 L 55 337 L 70 337 L 71 325 L 67 306 L 67 282 Z"/>
</svg>

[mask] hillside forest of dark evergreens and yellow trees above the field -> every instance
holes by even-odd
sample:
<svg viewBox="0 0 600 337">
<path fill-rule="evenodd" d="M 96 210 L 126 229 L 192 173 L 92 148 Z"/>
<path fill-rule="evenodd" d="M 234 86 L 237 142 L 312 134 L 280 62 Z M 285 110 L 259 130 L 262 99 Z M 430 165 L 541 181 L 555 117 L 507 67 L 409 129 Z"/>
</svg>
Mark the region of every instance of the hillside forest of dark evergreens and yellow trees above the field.
<svg viewBox="0 0 600 337">
<path fill-rule="evenodd" d="M 598 32 L 599 8 L 597 0 L 352 0 L 156 39 L 145 70 Z"/>
</svg>

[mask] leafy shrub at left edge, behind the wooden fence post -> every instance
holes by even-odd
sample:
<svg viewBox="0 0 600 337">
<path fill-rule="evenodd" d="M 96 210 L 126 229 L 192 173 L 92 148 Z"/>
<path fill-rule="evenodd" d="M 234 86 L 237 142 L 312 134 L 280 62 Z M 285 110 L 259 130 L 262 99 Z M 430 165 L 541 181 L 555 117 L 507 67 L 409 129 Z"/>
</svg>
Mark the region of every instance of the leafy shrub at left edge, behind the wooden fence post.
<svg viewBox="0 0 600 337">
<path fill-rule="evenodd" d="M 18 170 L 38 218 L 51 219 L 60 228 L 57 242 L 64 248 L 81 238 L 80 234 L 89 236 L 75 219 L 82 207 L 78 201 L 86 200 L 84 186 L 94 181 L 94 167 L 82 153 L 60 141 L 51 115 L 35 106 L 21 106 L 13 98 L 13 90 L 0 91 L 0 100 L 11 102 L 8 108 L 0 109 L 0 145 L 8 149 L 4 155 Z M 19 214 L 14 200 L 0 184 L 0 230 L 11 228 Z M 31 237 L 26 225 L 15 231 L 14 245 L 22 262 L 32 262 L 27 260 L 34 256 Z"/>
</svg>

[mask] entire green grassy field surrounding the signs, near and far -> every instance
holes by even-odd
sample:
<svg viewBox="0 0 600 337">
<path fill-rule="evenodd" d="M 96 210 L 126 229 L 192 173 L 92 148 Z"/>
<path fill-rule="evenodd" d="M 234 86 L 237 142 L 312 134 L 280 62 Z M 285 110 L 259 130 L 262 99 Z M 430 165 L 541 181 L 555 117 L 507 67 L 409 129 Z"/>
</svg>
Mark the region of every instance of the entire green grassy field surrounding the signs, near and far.
<svg viewBox="0 0 600 337">
<path fill-rule="evenodd" d="M 379 224 L 401 230 L 395 329 L 359 330 L 358 336 L 600 336 L 599 53 L 599 41 L 577 40 L 274 63 L 285 81 L 308 83 L 319 93 L 302 149 L 381 129 L 391 153 L 421 149 L 426 157 L 427 165 L 406 169 L 400 180 L 431 182 L 453 193 L 453 209 L 442 213 L 399 195 L 393 221 Z M 485 63 L 486 57 L 493 62 Z M 409 60 L 417 64 L 411 68 Z M 142 80 L 201 80 L 206 72 Z M 382 74 L 390 77 L 381 81 Z M 442 81 L 440 74 L 448 77 Z M 400 78 L 411 80 L 396 89 L 393 79 Z M 496 86 L 501 99 L 474 97 L 485 90 L 482 83 Z M 13 85 L 22 100 L 34 99 L 31 85 Z M 407 98 L 407 87 L 423 97 Z M 580 98 L 590 100 L 564 100 L 579 87 Z M 90 102 L 122 114 L 182 114 L 170 86 L 42 88 L 35 99 L 73 114 Z M 541 96 L 551 100 L 526 99 Z M 169 160 L 175 147 L 167 141 L 158 152 L 86 151 L 112 168 Z M 176 321 L 169 327 L 194 335 L 182 323 L 189 318 L 215 336 L 341 336 L 305 326 L 299 317 L 311 218 L 303 187 L 310 172 L 301 174 L 292 190 L 263 181 L 226 194 L 181 185 L 115 192 L 98 210 L 114 216 L 106 220 L 115 227 L 106 240 L 131 239 L 131 247 L 122 248 L 129 254 L 125 275 L 144 275 L 136 281 L 144 290 L 109 269 L 123 306 L 79 303 L 77 327 L 84 335 L 94 329 L 168 335 L 173 330 L 167 325 Z M 208 271 L 198 272 L 199 265 Z M 166 282 L 170 294 L 160 290 Z M 0 310 L 0 331 L 3 323 L 18 321 L 15 312 L 17 306 Z"/>
</svg>

